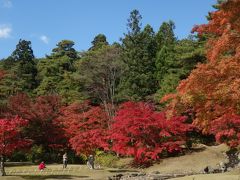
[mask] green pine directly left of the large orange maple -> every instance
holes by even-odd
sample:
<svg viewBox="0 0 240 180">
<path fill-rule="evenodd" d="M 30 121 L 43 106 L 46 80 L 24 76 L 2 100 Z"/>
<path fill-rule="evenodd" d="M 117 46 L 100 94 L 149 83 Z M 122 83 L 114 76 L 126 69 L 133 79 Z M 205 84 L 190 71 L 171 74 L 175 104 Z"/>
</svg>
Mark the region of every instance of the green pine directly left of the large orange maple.
<svg viewBox="0 0 240 180">
<path fill-rule="evenodd" d="M 163 46 L 158 52 L 157 60 L 161 61 L 156 66 L 161 71 L 157 71 L 160 79 L 157 101 L 165 94 L 175 92 L 180 80 L 187 78 L 197 63 L 205 61 L 204 42 L 190 37 L 176 41 L 173 48 Z"/>
</svg>

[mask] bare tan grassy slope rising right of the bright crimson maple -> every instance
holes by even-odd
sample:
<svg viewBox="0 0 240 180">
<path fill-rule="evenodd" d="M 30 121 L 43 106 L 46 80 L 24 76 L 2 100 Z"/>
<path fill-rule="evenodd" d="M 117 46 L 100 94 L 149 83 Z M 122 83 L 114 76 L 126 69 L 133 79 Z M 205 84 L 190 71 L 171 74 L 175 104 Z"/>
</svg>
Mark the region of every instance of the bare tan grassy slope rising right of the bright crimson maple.
<svg viewBox="0 0 240 180">
<path fill-rule="evenodd" d="M 192 152 L 184 156 L 170 157 L 163 159 L 159 164 L 155 164 L 145 172 L 159 171 L 160 173 L 199 173 L 206 166 L 216 168 L 220 162 L 226 162 L 224 153 L 228 147 L 224 144 L 218 146 L 201 145 L 198 152 Z"/>
</svg>

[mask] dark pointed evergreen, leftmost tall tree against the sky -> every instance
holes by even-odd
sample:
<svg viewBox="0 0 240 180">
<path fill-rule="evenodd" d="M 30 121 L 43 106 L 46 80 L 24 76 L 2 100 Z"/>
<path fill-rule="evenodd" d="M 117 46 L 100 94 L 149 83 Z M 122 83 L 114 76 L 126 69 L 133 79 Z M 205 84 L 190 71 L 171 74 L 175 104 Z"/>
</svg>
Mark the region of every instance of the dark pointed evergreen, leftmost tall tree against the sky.
<svg viewBox="0 0 240 180">
<path fill-rule="evenodd" d="M 20 39 L 11 56 L 3 60 L 2 68 L 7 72 L 1 84 L 2 95 L 31 93 L 36 88 L 37 68 L 30 41 Z"/>
</svg>

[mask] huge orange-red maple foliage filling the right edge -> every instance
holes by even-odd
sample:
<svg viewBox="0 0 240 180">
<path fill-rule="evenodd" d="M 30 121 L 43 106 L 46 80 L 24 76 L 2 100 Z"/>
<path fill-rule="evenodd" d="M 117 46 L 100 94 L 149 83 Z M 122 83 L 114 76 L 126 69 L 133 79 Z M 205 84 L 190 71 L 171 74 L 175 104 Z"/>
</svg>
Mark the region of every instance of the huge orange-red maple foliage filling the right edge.
<svg viewBox="0 0 240 180">
<path fill-rule="evenodd" d="M 240 1 L 228 0 L 211 13 L 208 24 L 193 30 L 208 36 L 206 64 L 200 64 L 183 80 L 170 107 L 194 112 L 193 123 L 219 142 L 239 144 L 237 115 L 240 104 Z M 166 99 L 165 99 L 166 100 Z M 216 123 L 216 124 L 215 124 Z M 231 126 L 225 126 L 230 123 Z M 224 127 L 225 128 L 220 128 Z M 225 140 L 223 140 L 223 137 Z M 238 139 L 238 140 L 237 140 Z"/>
</svg>

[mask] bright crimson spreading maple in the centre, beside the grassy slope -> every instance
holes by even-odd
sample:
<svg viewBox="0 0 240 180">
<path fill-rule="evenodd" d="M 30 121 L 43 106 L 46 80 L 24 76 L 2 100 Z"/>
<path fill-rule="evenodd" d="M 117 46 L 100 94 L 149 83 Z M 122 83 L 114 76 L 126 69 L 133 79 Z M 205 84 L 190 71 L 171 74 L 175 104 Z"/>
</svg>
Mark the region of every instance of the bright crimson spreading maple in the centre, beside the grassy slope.
<svg viewBox="0 0 240 180">
<path fill-rule="evenodd" d="M 162 153 L 176 153 L 186 142 L 191 125 L 185 117 L 169 120 L 164 112 L 143 102 L 126 102 L 114 118 L 111 139 L 112 150 L 122 155 L 133 155 L 136 162 L 159 159 Z"/>
</svg>

